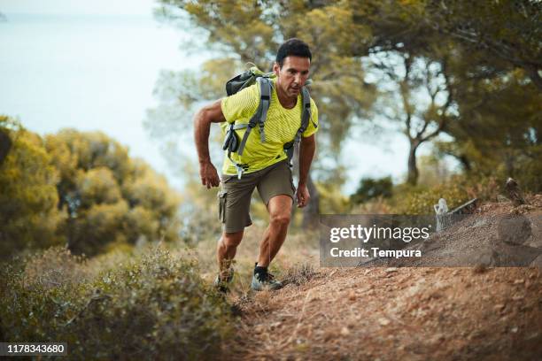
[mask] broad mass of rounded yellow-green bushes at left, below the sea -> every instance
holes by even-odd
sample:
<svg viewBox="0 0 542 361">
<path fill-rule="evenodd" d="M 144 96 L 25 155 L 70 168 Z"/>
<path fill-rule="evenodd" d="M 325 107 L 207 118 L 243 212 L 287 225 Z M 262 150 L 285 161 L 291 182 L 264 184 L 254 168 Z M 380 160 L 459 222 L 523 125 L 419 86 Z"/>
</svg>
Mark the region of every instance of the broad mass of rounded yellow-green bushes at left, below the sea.
<svg viewBox="0 0 542 361">
<path fill-rule="evenodd" d="M 112 245 L 179 239 L 179 198 L 149 165 L 102 133 L 42 139 L 0 117 L 12 142 L 0 165 L 0 257 L 68 244 L 96 255 Z"/>
</svg>

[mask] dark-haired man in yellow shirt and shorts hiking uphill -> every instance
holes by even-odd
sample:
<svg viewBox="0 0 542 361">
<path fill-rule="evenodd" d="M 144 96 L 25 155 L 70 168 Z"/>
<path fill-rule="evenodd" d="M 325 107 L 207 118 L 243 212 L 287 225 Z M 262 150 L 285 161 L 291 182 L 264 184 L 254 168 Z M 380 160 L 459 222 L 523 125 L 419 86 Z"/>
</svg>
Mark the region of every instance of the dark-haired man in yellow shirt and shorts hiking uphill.
<svg viewBox="0 0 542 361">
<path fill-rule="evenodd" d="M 219 217 L 223 229 L 217 246 L 220 272 L 215 280 L 215 286 L 221 291 L 228 290 L 228 283 L 233 278 L 231 263 L 236 256 L 236 248 L 243 239 L 244 227 L 252 224 L 249 208 L 254 188 L 258 188 L 259 195 L 267 206 L 270 223 L 259 247 L 251 287 L 254 290 L 282 287 L 282 283 L 275 280 L 267 267 L 286 238 L 294 195 L 298 207 L 305 207 L 310 199 L 306 180 L 314 157 L 314 133 L 318 127 L 318 110 L 312 99 L 311 119 L 302 134 L 299 147 L 297 193 L 283 145 L 294 139 L 301 125 L 301 90 L 308 79 L 311 60 L 311 51 L 301 40 L 290 39 L 279 48 L 273 66 L 276 77 L 273 79 L 271 102 L 265 121 L 265 142 L 260 141 L 258 129 L 255 127 L 248 136 L 243 155 L 231 154 L 237 164 L 247 166 L 240 179 L 236 175 L 236 166 L 227 154 L 224 156 L 222 176 L 219 179 L 209 157 L 209 130 L 211 123 L 248 123 L 258 109 L 258 85 L 244 88 L 233 96 L 205 106 L 194 118 L 194 137 L 202 184 L 211 188 L 222 183 L 222 190 L 219 192 Z M 236 131 L 239 139 L 243 138 L 244 131 L 245 129 Z"/>
</svg>

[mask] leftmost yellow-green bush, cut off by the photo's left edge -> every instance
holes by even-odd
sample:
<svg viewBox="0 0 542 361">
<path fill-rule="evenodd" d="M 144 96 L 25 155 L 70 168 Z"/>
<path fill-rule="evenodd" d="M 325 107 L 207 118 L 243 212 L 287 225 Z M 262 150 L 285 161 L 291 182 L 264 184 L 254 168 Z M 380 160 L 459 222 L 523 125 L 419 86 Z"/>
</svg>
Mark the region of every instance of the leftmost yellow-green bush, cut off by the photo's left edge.
<svg viewBox="0 0 542 361">
<path fill-rule="evenodd" d="M 62 220 L 56 207 L 58 173 L 41 138 L 5 116 L 0 131 L 12 141 L 0 165 L 0 257 L 62 243 L 55 235 Z"/>
</svg>

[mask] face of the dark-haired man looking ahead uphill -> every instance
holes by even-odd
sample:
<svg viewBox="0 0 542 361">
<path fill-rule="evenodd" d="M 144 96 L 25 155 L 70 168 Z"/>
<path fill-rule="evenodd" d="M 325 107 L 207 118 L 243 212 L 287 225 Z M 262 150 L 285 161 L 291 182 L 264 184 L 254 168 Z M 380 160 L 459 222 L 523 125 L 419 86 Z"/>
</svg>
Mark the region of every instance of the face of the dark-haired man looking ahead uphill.
<svg viewBox="0 0 542 361">
<path fill-rule="evenodd" d="M 309 75 L 311 60 L 290 56 L 284 58 L 283 67 L 275 63 L 273 70 L 277 76 L 276 84 L 288 97 L 297 97 Z"/>
</svg>

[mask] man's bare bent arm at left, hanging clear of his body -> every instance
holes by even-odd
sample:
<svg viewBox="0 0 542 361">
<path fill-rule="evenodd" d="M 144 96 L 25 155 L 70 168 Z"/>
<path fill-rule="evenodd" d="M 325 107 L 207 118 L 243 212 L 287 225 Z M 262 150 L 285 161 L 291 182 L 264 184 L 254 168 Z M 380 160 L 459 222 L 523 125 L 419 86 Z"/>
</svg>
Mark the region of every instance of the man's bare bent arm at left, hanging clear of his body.
<svg viewBox="0 0 542 361">
<path fill-rule="evenodd" d="M 220 178 L 209 156 L 209 133 L 211 123 L 226 121 L 221 109 L 221 100 L 205 105 L 194 116 L 194 140 L 199 160 L 201 184 L 207 188 L 218 187 Z"/>
</svg>

